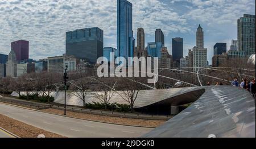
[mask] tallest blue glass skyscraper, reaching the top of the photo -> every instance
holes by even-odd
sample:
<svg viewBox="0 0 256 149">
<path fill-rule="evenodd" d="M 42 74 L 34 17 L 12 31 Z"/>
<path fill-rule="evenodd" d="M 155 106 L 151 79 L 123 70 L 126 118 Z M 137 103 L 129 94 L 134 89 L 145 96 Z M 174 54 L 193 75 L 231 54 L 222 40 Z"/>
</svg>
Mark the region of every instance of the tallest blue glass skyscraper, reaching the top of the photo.
<svg viewBox="0 0 256 149">
<path fill-rule="evenodd" d="M 133 4 L 117 0 L 117 57 L 133 57 Z"/>
</svg>

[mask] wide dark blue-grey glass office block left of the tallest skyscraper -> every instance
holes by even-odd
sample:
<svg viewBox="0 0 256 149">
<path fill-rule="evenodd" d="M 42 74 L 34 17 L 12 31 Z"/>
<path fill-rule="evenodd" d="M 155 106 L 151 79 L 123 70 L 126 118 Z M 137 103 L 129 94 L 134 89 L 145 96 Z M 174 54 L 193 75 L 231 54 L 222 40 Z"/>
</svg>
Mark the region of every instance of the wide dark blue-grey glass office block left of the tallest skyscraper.
<svg viewBox="0 0 256 149">
<path fill-rule="evenodd" d="M 103 56 L 103 34 L 98 27 L 66 32 L 66 54 L 96 64 Z"/>
</svg>

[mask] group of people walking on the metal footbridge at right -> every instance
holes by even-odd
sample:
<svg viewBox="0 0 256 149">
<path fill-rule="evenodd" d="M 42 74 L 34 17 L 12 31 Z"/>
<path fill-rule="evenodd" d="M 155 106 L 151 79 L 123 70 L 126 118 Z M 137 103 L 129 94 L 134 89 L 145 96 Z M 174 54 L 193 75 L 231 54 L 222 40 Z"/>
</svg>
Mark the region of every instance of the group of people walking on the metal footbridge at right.
<svg viewBox="0 0 256 149">
<path fill-rule="evenodd" d="M 237 81 L 237 78 L 234 78 L 234 81 L 232 81 L 233 86 L 241 87 L 243 89 L 248 90 L 253 97 L 255 98 L 255 78 L 253 78 L 251 81 L 247 80 L 246 78 L 241 82 L 241 84 Z"/>
</svg>

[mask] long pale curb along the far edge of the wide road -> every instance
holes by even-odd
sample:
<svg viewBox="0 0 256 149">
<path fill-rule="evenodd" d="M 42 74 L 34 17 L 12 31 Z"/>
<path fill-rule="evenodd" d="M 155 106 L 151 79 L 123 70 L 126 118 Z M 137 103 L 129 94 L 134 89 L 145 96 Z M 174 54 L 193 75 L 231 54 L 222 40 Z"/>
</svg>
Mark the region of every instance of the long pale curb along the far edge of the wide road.
<svg viewBox="0 0 256 149">
<path fill-rule="evenodd" d="M 52 114 L 52 115 L 58 115 L 58 116 L 67 117 L 67 118 L 75 118 L 75 117 L 69 117 L 69 116 L 65 116 L 65 115 L 61 115 L 61 114 L 54 114 L 54 113 L 44 112 L 44 111 L 40 111 L 40 110 L 30 109 L 30 108 L 27 108 L 27 107 L 6 104 L 4 102 L 0 102 L 0 103 L 1 104 L 5 104 L 5 105 L 20 107 L 20 108 L 27 109 L 27 110 L 39 111 L 40 113 L 47 113 L 47 114 Z M 91 119 L 83 119 L 83 118 L 75 118 L 75 119 L 80 119 L 80 120 L 90 121 L 90 122 L 107 123 L 107 124 L 112 124 L 112 125 L 130 126 L 130 127 L 142 127 L 142 128 L 148 128 L 148 129 L 155 129 L 156 128 L 156 127 L 149 127 L 149 126 L 125 125 L 125 124 L 121 124 L 121 123 L 110 123 L 110 122 L 94 121 L 94 120 L 91 120 Z"/>
</svg>

